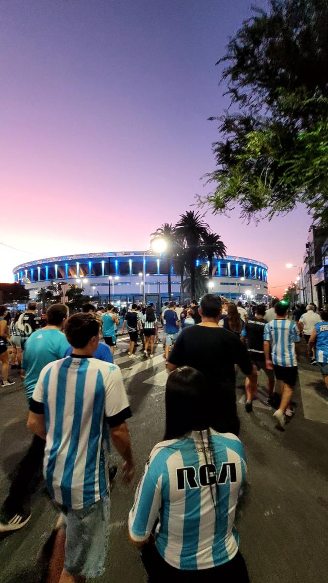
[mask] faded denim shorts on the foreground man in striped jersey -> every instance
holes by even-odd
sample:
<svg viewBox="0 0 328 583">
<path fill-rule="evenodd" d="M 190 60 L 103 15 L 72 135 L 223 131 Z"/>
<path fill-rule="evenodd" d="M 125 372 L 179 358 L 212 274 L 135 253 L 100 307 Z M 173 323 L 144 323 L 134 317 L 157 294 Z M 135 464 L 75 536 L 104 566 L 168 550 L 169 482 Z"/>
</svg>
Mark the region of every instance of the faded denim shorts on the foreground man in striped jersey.
<svg viewBox="0 0 328 583">
<path fill-rule="evenodd" d="M 81 510 L 62 509 L 66 533 L 64 568 L 73 577 L 100 577 L 105 571 L 110 529 L 110 496 Z"/>
</svg>

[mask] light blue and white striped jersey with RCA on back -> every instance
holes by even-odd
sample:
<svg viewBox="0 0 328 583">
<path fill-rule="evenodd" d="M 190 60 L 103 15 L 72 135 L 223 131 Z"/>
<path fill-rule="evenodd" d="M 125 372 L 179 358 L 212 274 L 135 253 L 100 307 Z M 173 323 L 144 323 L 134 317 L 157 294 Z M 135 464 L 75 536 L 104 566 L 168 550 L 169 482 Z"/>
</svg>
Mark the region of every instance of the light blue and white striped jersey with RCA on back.
<svg viewBox="0 0 328 583">
<path fill-rule="evenodd" d="M 160 519 L 156 548 L 168 564 L 182 570 L 215 567 L 238 552 L 234 518 L 246 475 L 244 448 L 232 433 L 211 430 L 210 441 L 206 431 L 193 431 L 158 443 L 129 514 L 130 536 L 136 541 L 147 539 Z"/>
</svg>

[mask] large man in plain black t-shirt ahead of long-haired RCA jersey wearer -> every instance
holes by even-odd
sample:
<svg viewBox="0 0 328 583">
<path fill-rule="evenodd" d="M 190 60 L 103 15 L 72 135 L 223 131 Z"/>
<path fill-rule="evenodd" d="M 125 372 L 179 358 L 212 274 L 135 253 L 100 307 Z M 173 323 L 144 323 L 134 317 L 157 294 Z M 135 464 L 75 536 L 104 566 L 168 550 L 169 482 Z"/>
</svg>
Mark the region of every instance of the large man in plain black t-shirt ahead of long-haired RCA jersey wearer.
<svg viewBox="0 0 328 583">
<path fill-rule="evenodd" d="M 220 297 L 205 294 L 200 301 L 199 314 L 202 323 L 189 326 L 179 334 L 167 368 L 172 371 L 180 366 L 191 366 L 203 373 L 212 389 L 209 409 L 213 411 L 213 429 L 238 435 L 235 364 L 244 374 L 251 375 L 252 363 L 238 336 L 218 326 Z"/>
</svg>

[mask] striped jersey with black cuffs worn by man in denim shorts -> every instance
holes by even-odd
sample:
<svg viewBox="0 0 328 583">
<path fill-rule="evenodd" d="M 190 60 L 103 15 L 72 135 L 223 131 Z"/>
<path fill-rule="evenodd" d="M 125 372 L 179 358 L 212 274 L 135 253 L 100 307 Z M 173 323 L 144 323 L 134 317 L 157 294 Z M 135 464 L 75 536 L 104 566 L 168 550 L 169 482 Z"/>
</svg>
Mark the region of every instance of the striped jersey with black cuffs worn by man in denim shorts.
<svg viewBox="0 0 328 583">
<path fill-rule="evenodd" d="M 94 504 L 109 487 L 105 417 L 111 427 L 131 417 L 121 370 L 87 357 L 57 360 L 41 371 L 31 410 L 35 402 L 44 406 L 50 496 L 76 510 Z"/>
</svg>

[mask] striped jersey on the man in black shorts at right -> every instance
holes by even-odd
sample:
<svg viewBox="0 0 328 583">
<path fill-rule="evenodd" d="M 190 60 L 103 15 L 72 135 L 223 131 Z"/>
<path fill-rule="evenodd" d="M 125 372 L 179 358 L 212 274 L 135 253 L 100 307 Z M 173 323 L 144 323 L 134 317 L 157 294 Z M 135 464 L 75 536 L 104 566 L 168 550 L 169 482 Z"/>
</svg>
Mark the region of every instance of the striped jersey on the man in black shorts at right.
<svg viewBox="0 0 328 583">
<path fill-rule="evenodd" d="M 271 320 L 264 326 L 264 340 L 271 342 L 273 364 L 286 368 L 297 366 L 295 342 L 299 342 L 299 334 L 295 322 Z"/>
</svg>

